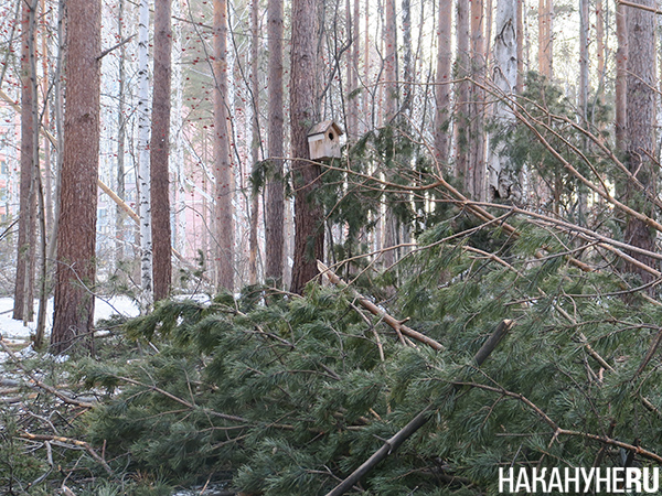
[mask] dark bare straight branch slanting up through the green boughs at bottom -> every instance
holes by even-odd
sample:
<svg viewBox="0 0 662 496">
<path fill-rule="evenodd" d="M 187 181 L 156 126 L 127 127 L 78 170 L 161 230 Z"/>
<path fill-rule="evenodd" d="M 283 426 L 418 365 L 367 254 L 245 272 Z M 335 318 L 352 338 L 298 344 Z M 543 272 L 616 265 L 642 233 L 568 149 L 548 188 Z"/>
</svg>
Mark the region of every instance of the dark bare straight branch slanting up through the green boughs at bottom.
<svg viewBox="0 0 662 496">
<path fill-rule="evenodd" d="M 319 263 L 320 262 L 318 262 L 318 265 Z M 499 345 L 503 336 L 505 336 L 505 334 L 512 328 L 513 324 L 513 321 L 504 320 L 496 326 L 496 328 L 490 335 L 488 341 L 483 343 L 478 353 L 473 356 L 473 362 L 478 367 L 480 367 L 485 362 L 485 359 Z M 364 475 L 372 471 L 382 460 L 386 459 L 386 456 L 394 453 L 407 439 L 409 439 L 416 431 L 418 431 L 418 429 L 425 425 L 426 422 L 429 420 L 430 410 L 431 405 L 425 407 L 420 411 L 420 413 L 418 413 L 416 417 L 414 417 L 414 419 L 412 419 L 412 421 L 409 421 L 409 423 L 407 423 L 389 440 L 384 442 L 382 448 L 380 448 L 370 459 L 363 462 L 363 464 L 359 468 L 356 468 L 349 477 L 346 477 L 332 490 L 327 493 L 327 496 L 341 496 L 345 494 L 349 489 L 351 489 L 354 486 L 354 484 L 356 484 Z"/>
</svg>

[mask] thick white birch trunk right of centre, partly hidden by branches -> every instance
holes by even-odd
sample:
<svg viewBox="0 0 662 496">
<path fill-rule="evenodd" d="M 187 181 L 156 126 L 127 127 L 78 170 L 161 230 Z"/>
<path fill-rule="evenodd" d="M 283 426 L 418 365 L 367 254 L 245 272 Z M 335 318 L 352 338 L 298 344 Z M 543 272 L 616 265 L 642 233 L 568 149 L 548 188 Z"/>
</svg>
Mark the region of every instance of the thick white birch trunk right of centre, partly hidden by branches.
<svg viewBox="0 0 662 496">
<path fill-rule="evenodd" d="M 493 116 L 501 132 L 506 132 L 504 129 L 515 123 L 508 100 L 513 97 L 517 84 L 516 11 L 516 0 L 499 0 L 496 4 L 492 82 L 499 88 L 501 99 L 494 104 Z M 516 171 L 512 161 L 505 155 L 504 149 L 505 144 L 499 142 L 490 152 L 488 160 L 490 193 L 496 198 L 519 202 L 522 198 L 522 188 Z"/>
</svg>

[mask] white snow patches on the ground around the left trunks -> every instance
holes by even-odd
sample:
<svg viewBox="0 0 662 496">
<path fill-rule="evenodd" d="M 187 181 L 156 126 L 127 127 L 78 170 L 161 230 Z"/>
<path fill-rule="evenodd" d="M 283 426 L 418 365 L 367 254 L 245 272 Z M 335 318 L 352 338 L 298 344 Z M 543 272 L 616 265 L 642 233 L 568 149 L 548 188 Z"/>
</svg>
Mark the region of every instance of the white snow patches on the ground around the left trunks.
<svg viewBox="0 0 662 496">
<path fill-rule="evenodd" d="M 34 334 L 36 322 L 31 322 L 28 326 L 24 326 L 22 322 L 14 321 L 11 317 L 13 309 L 12 298 L 0 298 L 0 335 L 7 341 L 19 341 L 24 342 L 30 339 L 30 335 Z M 36 312 L 39 309 L 39 302 L 34 302 L 34 319 L 36 321 Z M 110 315 L 125 315 L 136 316 L 138 315 L 138 306 L 136 303 L 127 296 L 113 296 L 103 298 L 99 296 L 95 301 L 94 306 L 94 320 L 95 322 L 100 319 L 108 319 Z M 46 312 L 46 334 L 50 334 L 51 326 L 53 325 L 53 299 L 49 300 L 49 310 Z"/>
</svg>

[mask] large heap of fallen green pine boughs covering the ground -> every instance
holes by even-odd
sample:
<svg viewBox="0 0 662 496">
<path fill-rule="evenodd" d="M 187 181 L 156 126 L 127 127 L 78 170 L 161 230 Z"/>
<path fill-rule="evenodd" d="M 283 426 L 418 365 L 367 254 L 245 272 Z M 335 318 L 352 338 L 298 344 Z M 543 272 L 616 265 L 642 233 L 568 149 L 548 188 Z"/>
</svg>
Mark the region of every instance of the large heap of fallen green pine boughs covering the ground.
<svg viewBox="0 0 662 496">
<path fill-rule="evenodd" d="M 164 303 L 127 326 L 150 354 L 84 368 L 108 391 L 89 442 L 118 471 L 325 495 L 427 408 L 350 493 L 496 494 L 499 467 L 659 464 L 662 308 L 611 272 L 536 259 L 565 251 L 547 230 L 520 226 L 485 256 L 479 237 L 441 242 L 452 229 L 426 234 L 391 305 L 444 351 L 398 337 L 349 290 Z"/>
</svg>

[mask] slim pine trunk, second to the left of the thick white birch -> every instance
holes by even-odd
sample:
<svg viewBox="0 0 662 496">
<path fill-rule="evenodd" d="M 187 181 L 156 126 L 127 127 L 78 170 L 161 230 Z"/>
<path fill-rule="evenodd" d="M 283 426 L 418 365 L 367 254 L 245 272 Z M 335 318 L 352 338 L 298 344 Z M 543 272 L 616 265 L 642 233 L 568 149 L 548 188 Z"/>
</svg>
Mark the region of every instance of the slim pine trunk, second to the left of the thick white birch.
<svg viewBox="0 0 662 496">
<path fill-rule="evenodd" d="M 469 76 L 469 3 L 457 4 L 457 76 L 456 84 L 456 175 L 465 183 L 469 176 L 469 91 L 470 84 L 462 78 Z"/>
</svg>

